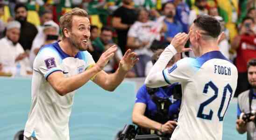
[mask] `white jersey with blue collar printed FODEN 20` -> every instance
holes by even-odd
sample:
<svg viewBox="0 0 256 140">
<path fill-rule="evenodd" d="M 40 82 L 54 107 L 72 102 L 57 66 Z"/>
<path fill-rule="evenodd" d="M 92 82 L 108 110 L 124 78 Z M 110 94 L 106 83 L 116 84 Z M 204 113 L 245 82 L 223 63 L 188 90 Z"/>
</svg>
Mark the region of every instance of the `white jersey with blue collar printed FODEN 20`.
<svg viewBox="0 0 256 140">
<path fill-rule="evenodd" d="M 222 140 L 225 113 L 232 100 L 237 69 L 220 51 L 184 58 L 163 70 L 168 84 L 182 85 L 178 126 L 171 140 Z"/>
</svg>

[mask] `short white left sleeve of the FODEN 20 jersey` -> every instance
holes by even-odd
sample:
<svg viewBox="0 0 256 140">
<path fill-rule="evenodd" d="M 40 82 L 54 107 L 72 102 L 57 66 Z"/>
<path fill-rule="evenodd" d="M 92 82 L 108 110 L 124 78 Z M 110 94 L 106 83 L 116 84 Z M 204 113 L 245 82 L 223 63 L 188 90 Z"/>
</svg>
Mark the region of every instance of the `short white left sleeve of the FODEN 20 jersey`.
<svg viewBox="0 0 256 140">
<path fill-rule="evenodd" d="M 163 77 L 166 83 L 174 84 L 186 82 L 193 75 L 191 58 L 184 58 L 173 64 L 172 67 L 163 70 Z"/>
</svg>

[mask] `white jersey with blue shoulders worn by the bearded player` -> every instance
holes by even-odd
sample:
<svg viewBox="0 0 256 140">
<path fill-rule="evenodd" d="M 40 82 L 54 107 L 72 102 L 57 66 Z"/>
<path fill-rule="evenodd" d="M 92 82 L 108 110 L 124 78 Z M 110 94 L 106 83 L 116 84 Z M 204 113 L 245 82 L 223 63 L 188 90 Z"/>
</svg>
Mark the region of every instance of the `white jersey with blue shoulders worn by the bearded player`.
<svg viewBox="0 0 256 140">
<path fill-rule="evenodd" d="M 75 57 L 67 55 L 58 42 L 40 49 L 33 65 L 32 104 L 25 126 L 26 137 L 38 140 L 69 140 L 69 117 L 75 91 L 60 96 L 47 82 L 47 77 L 62 71 L 65 77 L 85 71 L 95 62 L 87 51 Z"/>
</svg>

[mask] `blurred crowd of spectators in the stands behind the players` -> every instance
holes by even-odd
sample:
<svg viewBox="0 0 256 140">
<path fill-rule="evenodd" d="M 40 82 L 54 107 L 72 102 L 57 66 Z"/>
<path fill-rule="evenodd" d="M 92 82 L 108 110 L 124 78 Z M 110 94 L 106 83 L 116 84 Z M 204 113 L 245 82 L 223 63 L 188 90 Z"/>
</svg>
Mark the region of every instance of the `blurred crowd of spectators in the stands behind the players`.
<svg viewBox="0 0 256 140">
<path fill-rule="evenodd" d="M 199 15 L 212 15 L 225 33 L 220 51 L 239 71 L 236 94 L 249 89 L 246 63 L 256 58 L 256 0 L 0 0 L 0 75 L 30 76 L 40 48 L 61 39 L 59 18 L 73 7 L 89 14 L 88 51 L 95 62 L 118 46 L 105 71 L 114 72 L 127 49 L 138 54 L 127 77 L 147 76 L 154 51 L 187 33 Z"/>
</svg>

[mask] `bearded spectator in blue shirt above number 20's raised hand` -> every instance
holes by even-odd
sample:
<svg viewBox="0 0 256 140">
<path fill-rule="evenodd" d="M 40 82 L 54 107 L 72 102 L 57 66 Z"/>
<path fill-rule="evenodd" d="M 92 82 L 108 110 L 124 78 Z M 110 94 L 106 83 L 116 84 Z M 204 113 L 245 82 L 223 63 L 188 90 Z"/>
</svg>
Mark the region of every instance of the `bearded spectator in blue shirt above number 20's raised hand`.
<svg viewBox="0 0 256 140">
<path fill-rule="evenodd" d="M 182 32 L 182 25 L 179 21 L 176 21 L 174 19 L 174 16 L 176 14 L 175 6 L 172 2 L 165 3 L 164 7 L 164 23 L 167 26 L 167 31 L 165 32 L 164 38 L 168 42 L 171 42 L 172 38 L 178 34 L 179 32 Z"/>
</svg>

